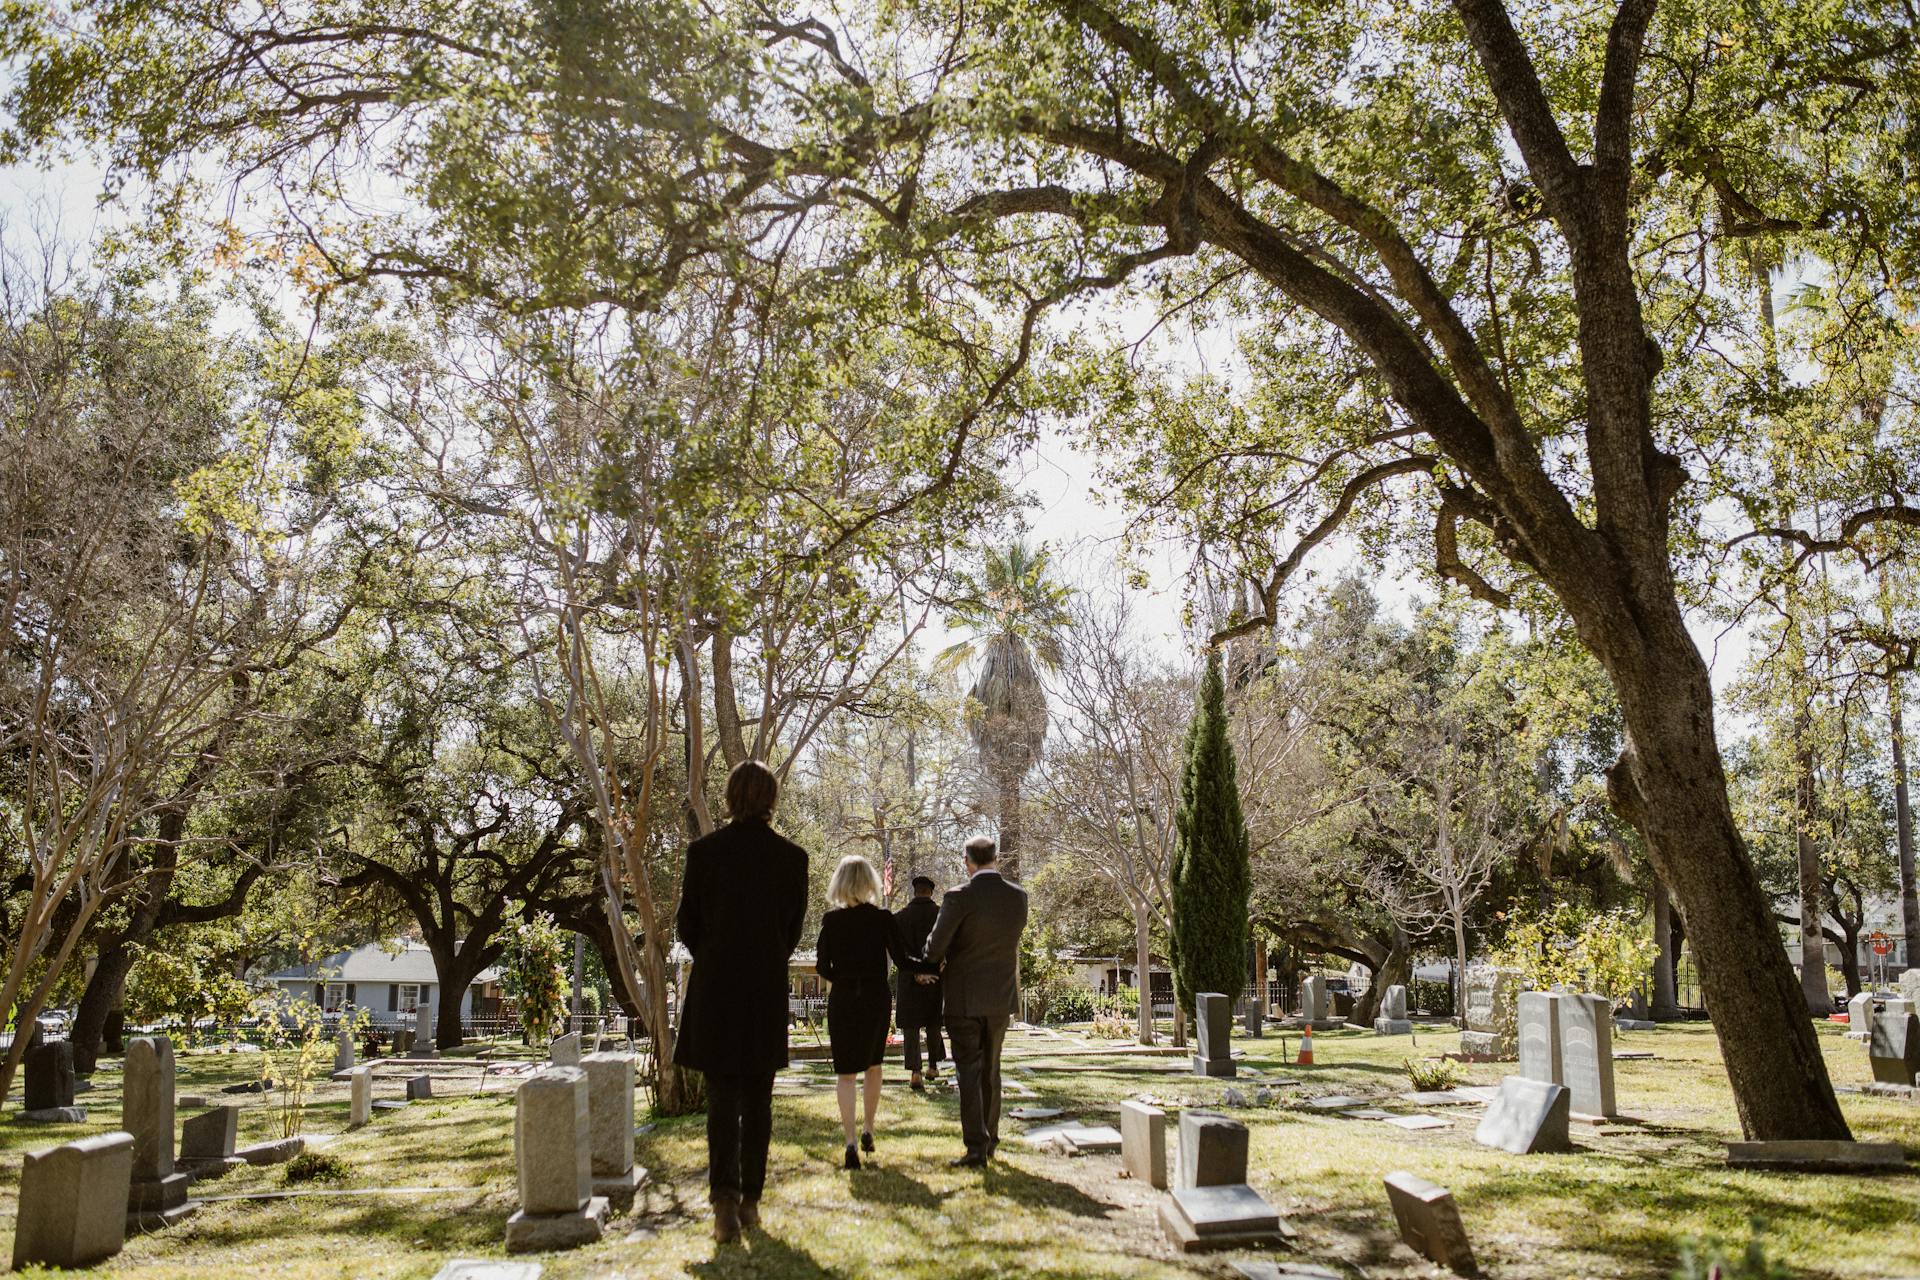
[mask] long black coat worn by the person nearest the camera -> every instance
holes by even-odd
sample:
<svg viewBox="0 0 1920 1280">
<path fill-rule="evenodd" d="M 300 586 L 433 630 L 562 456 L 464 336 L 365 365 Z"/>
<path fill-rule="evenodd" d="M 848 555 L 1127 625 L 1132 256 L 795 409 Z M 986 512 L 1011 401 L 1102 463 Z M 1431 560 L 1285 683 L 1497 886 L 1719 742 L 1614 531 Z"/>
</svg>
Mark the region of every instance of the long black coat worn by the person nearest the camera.
<svg viewBox="0 0 1920 1280">
<path fill-rule="evenodd" d="M 787 960 L 806 923 L 806 850 L 741 819 L 687 846 L 680 940 L 693 954 L 674 1061 L 695 1071 L 787 1065 Z"/>
</svg>

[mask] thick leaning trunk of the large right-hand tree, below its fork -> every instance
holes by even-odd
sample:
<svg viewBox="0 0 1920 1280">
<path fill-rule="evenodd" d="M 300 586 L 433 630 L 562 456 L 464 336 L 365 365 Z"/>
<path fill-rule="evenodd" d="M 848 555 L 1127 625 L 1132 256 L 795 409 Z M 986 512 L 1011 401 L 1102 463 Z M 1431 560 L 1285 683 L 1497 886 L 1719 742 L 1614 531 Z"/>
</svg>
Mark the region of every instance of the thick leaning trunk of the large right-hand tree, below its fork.
<svg viewBox="0 0 1920 1280">
<path fill-rule="evenodd" d="M 1628 733 L 1609 791 L 1645 835 L 1686 917 L 1741 1130 L 1751 1140 L 1847 1138 L 1772 904 L 1728 804 L 1707 664 L 1670 593 L 1659 618 L 1636 624 L 1644 643 L 1596 645 Z M 1582 629 L 1592 633 L 1592 622 Z"/>
</svg>

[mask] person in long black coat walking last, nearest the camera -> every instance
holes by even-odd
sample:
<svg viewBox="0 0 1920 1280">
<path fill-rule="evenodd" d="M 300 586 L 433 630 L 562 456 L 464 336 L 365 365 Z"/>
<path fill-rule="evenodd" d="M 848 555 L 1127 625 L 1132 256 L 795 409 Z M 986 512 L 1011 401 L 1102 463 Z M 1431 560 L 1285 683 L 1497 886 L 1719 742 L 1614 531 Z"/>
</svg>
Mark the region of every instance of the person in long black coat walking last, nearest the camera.
<svg viewBox="0 0 1920 1280">
<path fill-rule="evenodd" d="M 768 821 L 780 781 L 758 760 L 726 779 L 732 821 L 687 846 L 680 942 L 693 956 L 674 1061 L 707 1075 L 714 1240 L 758 1226 L 774 1073 L 787 1065 L 787 961 L 806 923 L 806 850 Z"/>
</svg>

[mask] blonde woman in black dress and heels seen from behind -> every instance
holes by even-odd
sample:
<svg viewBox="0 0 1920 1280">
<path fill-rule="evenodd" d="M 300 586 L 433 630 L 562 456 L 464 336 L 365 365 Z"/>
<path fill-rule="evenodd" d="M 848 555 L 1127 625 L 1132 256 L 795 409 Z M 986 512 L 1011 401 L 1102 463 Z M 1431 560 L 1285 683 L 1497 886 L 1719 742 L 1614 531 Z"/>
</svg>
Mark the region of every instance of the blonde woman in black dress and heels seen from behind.
<svg viewBox="0 0 1920 1280">
<path fill-rule="evenodd" d="M 860 1148 L 874 1150 L 874 1111 L 879 1109 L 879 1061 L 887 1055 L 893 990 L 887 958 L 902 969 L 920 969 L 900 944 L 900 931 L 879 906 L 879 877 L 858 854 L 841 858 L 828 883 L 833 908 L 820 921 L 814 967 L 833 986 L 828 990 L 828 1040 L 833 1075 L 839 1077 L 841 1125 L 847 1130 L 847 1169 L 860 1167 Z M 866 1125 L 854 1140 L 854 1084 L 864 1079 Z"/>
</svg>

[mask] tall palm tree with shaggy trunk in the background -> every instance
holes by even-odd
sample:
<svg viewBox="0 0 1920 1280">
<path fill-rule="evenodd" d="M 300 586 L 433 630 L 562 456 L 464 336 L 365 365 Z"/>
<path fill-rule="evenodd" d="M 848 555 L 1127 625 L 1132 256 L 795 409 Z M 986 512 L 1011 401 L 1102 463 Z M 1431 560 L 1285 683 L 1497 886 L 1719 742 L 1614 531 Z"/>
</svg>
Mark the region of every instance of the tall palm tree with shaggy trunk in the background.
<svg viewBox="0 0 1920 1280">
<path fill-rule="evenodd" d="M 1060 670 L 1060 631 L 1071 591 L 1048 576 L 1046 547 L 1021 539 L 989 549 L 981 574 L 964 581 L 952 622 L 972 635 L 939 656 L 954 668 L 979 658 L 968 691 L 968 737 L 1000 819 L 1000 865 L 1020 873 L 1020 789 L 1046 741 L 1046 685 Z"/>
</svg>

